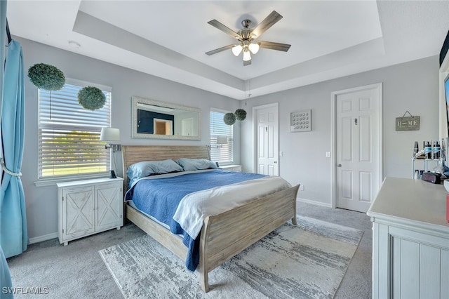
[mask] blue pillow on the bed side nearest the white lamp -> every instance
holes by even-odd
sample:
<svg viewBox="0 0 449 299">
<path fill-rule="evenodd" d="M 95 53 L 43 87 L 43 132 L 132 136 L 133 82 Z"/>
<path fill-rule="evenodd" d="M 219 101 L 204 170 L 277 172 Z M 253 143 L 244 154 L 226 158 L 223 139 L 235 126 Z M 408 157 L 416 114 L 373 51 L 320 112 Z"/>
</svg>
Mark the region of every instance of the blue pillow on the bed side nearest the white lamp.
<svg viewBox="0 0 449 299">
<path fill-rule="evenodd" d="M 128 167 L 126 174 L 130 180 L 145 178 L 148 175 L 183 171 L 182 167 L 171 159 L 163 161 L 142 161 Z"/>
</svg>

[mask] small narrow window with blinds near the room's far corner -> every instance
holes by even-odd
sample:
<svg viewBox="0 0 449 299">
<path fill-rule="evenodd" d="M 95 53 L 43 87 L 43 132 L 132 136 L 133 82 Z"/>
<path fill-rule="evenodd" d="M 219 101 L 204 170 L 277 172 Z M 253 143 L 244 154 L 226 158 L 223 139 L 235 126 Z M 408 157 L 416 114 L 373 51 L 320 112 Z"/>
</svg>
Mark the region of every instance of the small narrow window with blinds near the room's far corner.
<svg viewBox="0 0 449 299">
<path fill-rule="evenodd" d="M 226 113 L 210 111 L 210 158 L 220 165 L 234 162 L 234 127 L 223 121 Z"/>
</svg>

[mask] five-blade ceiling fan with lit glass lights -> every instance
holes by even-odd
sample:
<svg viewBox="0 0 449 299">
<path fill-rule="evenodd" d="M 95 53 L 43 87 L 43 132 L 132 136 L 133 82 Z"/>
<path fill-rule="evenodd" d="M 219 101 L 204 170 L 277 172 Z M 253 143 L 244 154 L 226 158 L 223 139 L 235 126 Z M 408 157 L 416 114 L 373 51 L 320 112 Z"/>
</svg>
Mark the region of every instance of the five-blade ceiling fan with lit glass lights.
<svg viewBox="0 0 449 299">
<path fill-rule="evenodd" d="M 267 31 L 269 27 L 272 27 L 274 24 L 276 24 L 276 22 L 281 20 L 281 18 L 282 15 L 279 15 L 279 13 L 276 13 L 276 11 L 272 11 L 272 13 L 270 13 L 267 16 L 267 18 L 262 20 L 262 22 L 260 22 L 259 25 L 257 25 L 253 29 L 249 27 L 251 24 L 250 20 L 243 20 L 241 21 L 241 25 L 243 25 L 243 28 L 240 29 L 238 32 L 229 29 L 229 27 L 226 27 L 225 25 L 223 25 L 222 23 L 218 22 L 215 19 L 211 20 L 208 22 L 208 24 L 212 25 L 217 29 L 220 29 L 222 32 L 225 32 L 226 34 L 229 34 L 229 36 L 232 36 L 232 38 L 237 39 L 239 41 L 239 44 L 230 44 L 228 46 L 208 51 L 206 52 L 206 54 L 213 55 L 215 53 L 232 49 L 232 53 L 235 56 L 239 56 L 240 53 L 243 52 L 243 66 L 246 66 L 251 64 L 250 53 L 253 54 L 257 53 L 257 51 L 259 51 L 259 48 L 267 48 L 287 52 L 291 45 L 274 43 L 272 41 L 255 41 L 255 39 L 259 38 L 262 35 L 262 33 Z"/>
</svg>

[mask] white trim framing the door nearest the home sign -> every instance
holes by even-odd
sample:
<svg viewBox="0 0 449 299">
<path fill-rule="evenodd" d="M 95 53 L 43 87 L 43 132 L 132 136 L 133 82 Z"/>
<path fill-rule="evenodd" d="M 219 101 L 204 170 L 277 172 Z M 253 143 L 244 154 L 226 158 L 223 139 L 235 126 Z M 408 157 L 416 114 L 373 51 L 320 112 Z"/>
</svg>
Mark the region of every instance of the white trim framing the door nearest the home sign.
<svg viewBox="0 0 449 299">
<path fill-rule="evenodd" d="M 331 114 L 330 114 L 330 146 L 332 149 L 332 155 L 330 156 L 330 163 L 331 163 L 331 182 L 333 187 L 331 188 L 331 194 L 330 197 L 332 198 L 332 207 L 336 208 L 337 207 L 337 161 L 336 161 L 336 155 L 337 155 L 337 96 L 338 95 L 342 95 L 344 93 L 354 93 L 356 91 L 365 91 L 368 89 L 377 89 L 377 92 L 379 93 L 379 102 L 378 102 L 378 106 L 377 109 L 379 111 L 378 113 L 378 119 L 377 122 L 379 124 L 379 134 L 378 134 L 378 145 L 379 145 L 379 154 L 378 154 L 378 163 L 379 165 L 377 166 L 379 169 L 379 184 L 382 184 L 383 182 L 383 159 L 382 159 L 382 153 L 383 153 L 383 146 L 382 146 L 382 102 L 383 102 L 383 84 L 382 82 L 377 83 L 377 84 L 370 84 L 370 85 L 366 85 L 366 86 L 359 86 L 356 88 L 348 88 L 348 89 L 344 89 L 342 91 L 333 91 L 330 94 L 330 109 L 331 109 Z M 380 185 L 377 186 L 377 190 L 380 189 Z M 373 199 L 374 201 L 374 199 Z"/>
</svg>

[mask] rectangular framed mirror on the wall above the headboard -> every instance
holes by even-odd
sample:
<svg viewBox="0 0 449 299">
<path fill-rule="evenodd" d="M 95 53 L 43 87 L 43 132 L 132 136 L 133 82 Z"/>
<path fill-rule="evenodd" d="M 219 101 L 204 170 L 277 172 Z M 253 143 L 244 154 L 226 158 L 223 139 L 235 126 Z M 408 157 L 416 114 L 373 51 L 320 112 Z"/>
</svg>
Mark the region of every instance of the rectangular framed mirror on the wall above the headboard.
<svg viewBox="0 0 449 299">
<path fill-rule="evenodd" d="M 201 140 L 201 110 L 133 96 L 133 138 Z"/>
</svg>

